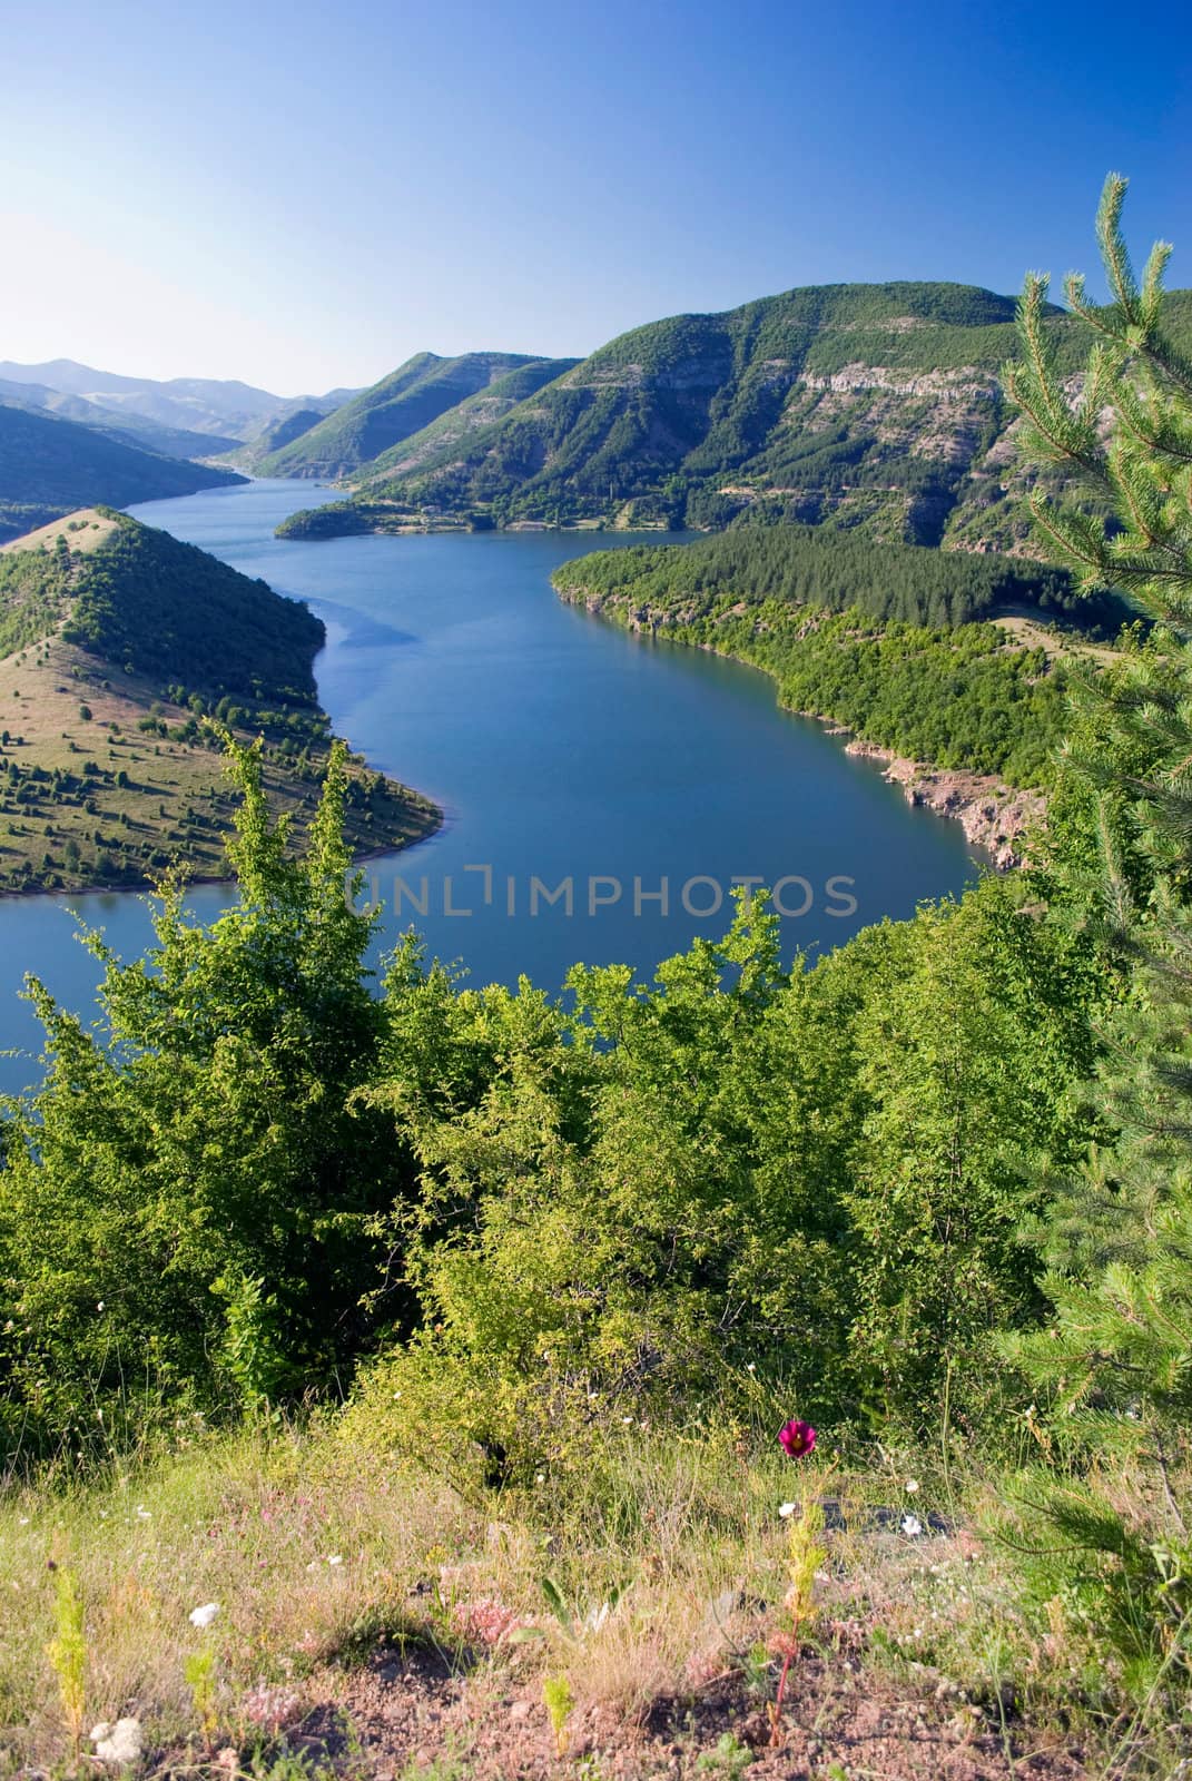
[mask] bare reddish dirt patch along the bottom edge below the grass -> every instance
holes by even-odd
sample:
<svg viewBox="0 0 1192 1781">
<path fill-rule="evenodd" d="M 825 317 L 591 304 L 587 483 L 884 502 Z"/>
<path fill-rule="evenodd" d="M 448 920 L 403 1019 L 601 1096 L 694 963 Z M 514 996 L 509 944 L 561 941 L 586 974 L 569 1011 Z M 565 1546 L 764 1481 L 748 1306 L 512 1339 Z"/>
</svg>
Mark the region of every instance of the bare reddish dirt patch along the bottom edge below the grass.
<svg viewBox="0 0 1192 1781">
<path fill-rule="evenodd" d="M 1025 1735 L 1012 1701 L 980 1710 L 932 1679 L 918 1690 L 894 1687 L 848 1655 L 807 1651 L 791 1671 L 777 1747 L 764 1704 L 734 1671 L 638 1715 L 577 1708 L 561 1754 L 540 1690 L 511 1687 L 486 1665 L 453 1672 L 433 1653 L 380 1646 L 363 1667 L 312 1683 L 287 1744 L 374 1781 L 420 1770 L 435 1781 L 745 1770 L 755 1781 L 1078 1781 L 1089 1772 L 1076 1745 Z"/>
</svg>

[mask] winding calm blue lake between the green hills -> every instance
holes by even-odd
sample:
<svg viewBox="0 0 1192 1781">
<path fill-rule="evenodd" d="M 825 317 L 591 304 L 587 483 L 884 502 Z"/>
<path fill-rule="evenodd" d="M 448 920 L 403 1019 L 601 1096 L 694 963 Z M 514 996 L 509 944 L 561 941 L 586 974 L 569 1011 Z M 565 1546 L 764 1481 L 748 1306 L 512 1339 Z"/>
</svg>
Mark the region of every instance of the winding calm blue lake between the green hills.
<svg viewBox="0 0 1192 1781">
<path fill-rule="evenodd" d="M 649 974 L 722 933 L 734 880 L 780 887 L 791 956 L 976 876 L 959 823 L 779 711 L 764 675 L 556 598 L 559 563 L 633 538 L 273 536 L 319 495 L 258 481 L 132 511 L 306 600 L 328 627 L 315 673 L 337 732 L 442 805 L 438 835 L 365 867 L 378 953 L 413 923 L 474 985 L 526 972 L 554 990 L 577 960 Z M 210 917 L 228 899 L 203 885 L 191 905 Z M 78 1012 L 93 1003 L 73 910 L 123 956 L 151 939 L 135 892 L 0 899 L 0 1035 L 18 1051 L 0 1060 L 4 1088 L 37 1074 L 25 971 Z"/>
</svg>

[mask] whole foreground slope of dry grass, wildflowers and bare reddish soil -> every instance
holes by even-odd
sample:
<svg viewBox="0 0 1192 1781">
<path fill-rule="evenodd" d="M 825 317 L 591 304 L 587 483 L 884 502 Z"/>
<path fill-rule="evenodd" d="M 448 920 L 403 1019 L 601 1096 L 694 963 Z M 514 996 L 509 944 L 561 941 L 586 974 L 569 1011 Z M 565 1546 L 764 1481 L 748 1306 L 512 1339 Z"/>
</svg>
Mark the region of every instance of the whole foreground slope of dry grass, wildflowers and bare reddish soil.
<svg viewBox="0 0 1192 1781">
<path fill-rule="evenodd" d="M 1114 1744 L 1090 1704 L 1105 1694 L 1090 1655 L 1048 1639 L 1012 1555 L 973 1533 L 987 1484 L 939 1478 L 927 1455 L 832 1475 L 818 1457 L 796 1471 L 777 1448 L 634 1428 L 609 1435 L 600 1491 L 574 1503 L 549 1475 L 526 1496 L 460 1496 L 351 1421 L 271 1441 L 191 1425 L 178 1446 L 110 1482 L 0 1501 L 0 1596 L 16 1610 L 0 1626 L 0 1749 L 20 1772 L 66 1772 L 69 1758 L 46 1658 L 48 1560 L 84 1603 L 82 1729 L 137 1717 L 150 1772 L 217 1776 L 210 1754 L 232 1749 L 233 1774 L 278 1781 L 310 1765 L 358 1781 L 542 1781 L 584 1753 L 577 1772 L 593 1777 L 731 1777 L 752 1747 L 757 1781 L 1076 1781 Z M 830 1496 L 846 1525 L 827 1535 L 770 1753 L 779 1503 L 804 1491 Z M 921 1535 L 902 1532 L 907 1510 Z M 576 1621 L 620 1601 L 568 1635 L 543 1574 Z M 189 1624 L 201 1603 L 219 1605 L 208 1633 Z M 185 1683 L 203 1649 L 207 1731 Z M 547 1676 L 572 1692 L 568 1760 Z"/>
</svg>

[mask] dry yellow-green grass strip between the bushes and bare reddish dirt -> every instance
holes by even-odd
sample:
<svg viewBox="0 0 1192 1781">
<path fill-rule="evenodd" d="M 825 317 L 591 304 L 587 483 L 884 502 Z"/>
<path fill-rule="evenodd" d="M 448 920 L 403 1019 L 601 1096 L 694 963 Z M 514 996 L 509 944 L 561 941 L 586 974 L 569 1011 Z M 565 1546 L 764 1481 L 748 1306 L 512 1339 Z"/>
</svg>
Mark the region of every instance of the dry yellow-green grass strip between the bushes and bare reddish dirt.
<svg viewBox="0 0 1192 1781">
<path fill-rule="evenodd" d="M 1012 1704 L 1019 1754 L 1108 1736 L 1090 1653 L 1058 1606 L 1032 1622 L 1007 1555 L 971 1532 L 989 1516 L 989 1484 L 969 1476 L 932 1533 L 928 1516 L 950 1509 L 944 1485 L 910 1464 L 827 1476 L 820 1455 L 796 1468 L 727 1439 L 634 1428 L 609 1435 L 602 1478 L 581 1494 L 543 1476 L 524 1496 L 469 1501 L 353 1419 L 233 1435 L 184 1425 L 159 1459 L 0 1498 L 0 1772 L 5 1758 L 69 1769 L 48 1656 L 62 1573 L 84 1610 L 86 1726 L 139 1719 L 150 1763 L 228 1742 L 248 1760 L 264 1726 L 349 1687 L 378 1653 L 415 1647 L 444 1674 L 472 1669 L 490 1701 L 527 1690 L 540 1712 L 543 1683 L 565 1681 L 576 1724 L 641 1724 L 652 1703 L 695 1701 L 725 1679 L 761 1706 L 789 1624 L 779 1503 L 804 1491 L 830 1505 L 829 1560 L 791 1685 L 814 1651 L 820 1717 L 848 1710 L 870 1676 L 916 1712 L 944 1703 L 985 1733 Z M 902 1530 L 909 1507 L 923 1535 Z M 217 1617 L 196 1630 L 191 1612 L 212 1601 Z M 207 1651 L 208 1733 L 187 1683 Z"/>
</svg>

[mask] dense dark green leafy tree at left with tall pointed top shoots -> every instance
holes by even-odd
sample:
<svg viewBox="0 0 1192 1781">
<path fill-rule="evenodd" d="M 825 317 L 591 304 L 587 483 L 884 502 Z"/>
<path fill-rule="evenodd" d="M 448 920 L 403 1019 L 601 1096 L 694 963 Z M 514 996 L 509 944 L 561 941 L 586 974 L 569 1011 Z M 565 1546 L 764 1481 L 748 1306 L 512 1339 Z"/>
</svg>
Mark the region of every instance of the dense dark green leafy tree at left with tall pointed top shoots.
<svg viewBox="0 0 1192 1781">
<path fill-rule="evenodd" d="M 301 1396 L 369 1339 L 369 1218 L 404 1172 L 351 1106 L 381 1008 L 372 919 L 344 899 L 344 750 L 301 862 L 255 755 L 233 766 L 239 905 L 201 928 L 166 890 L 134 965 L 91 937 L 98 1029 L 30 983 L 46 1079 L 4 1131 L 0 1432 L 32 1452 L 125 1441 L 171 1395 L 216 1412 Z"/>
</svg>

